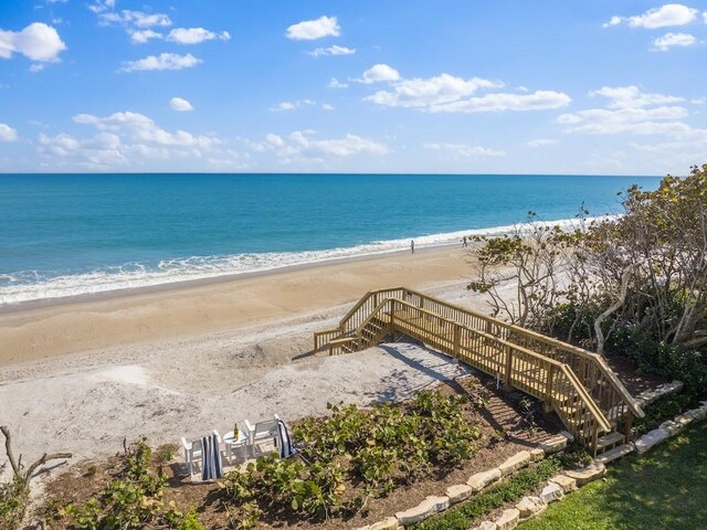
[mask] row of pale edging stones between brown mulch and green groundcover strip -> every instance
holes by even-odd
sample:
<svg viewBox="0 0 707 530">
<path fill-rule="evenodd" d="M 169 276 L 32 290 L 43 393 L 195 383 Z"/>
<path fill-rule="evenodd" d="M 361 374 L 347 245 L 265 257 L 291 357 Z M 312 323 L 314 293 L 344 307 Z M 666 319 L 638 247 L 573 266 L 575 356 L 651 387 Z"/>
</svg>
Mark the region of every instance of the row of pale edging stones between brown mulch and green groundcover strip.
<svg viewBox="0 0 707 530">
<path fill-rule="evenodd" d="M 546 457 L 546 455 L 564 449 L 564 447 L 567 447 L 567 443 L 568 436 L 566 433 L 560 433 L 542 442 L 534 449 L 516 453 L 515 455 L 506 458 L 506 460 L 499 464 L 498 467 L 472 475 L 466 484 L 450 486 L 446 488 L 445 495 L 443 496 L 428 496 L 418 506 L 408 510 L 399 511 L 393 517 L 387 517 L 381 521 L 366 527 L 360 527 L 357 530 L 399 530 L 410 524 L 423 521 L 446 510 L 451 506 L 468 499 L 472 495 L 483 491 L 498 480 L 509 477 L 517 470 L 526 467 L 528 464 L 540 462 Z M 509 521 L 511 520 L 513 517 L 509 518 Z"/>
</svg>

